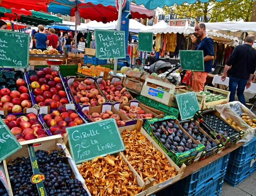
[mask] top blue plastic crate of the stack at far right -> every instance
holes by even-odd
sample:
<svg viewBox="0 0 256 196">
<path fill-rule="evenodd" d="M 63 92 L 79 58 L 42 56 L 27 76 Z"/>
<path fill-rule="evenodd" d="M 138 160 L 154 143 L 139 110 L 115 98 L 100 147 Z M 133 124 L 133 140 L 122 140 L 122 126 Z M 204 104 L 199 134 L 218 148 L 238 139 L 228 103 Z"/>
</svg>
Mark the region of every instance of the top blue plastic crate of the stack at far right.
<svg viewBox="0 0 256 196">
<path fill-rule="evenodd" d="M 256 137 L 230 153 L 229 161 L 236 167 L 240 167 L 246 161 L 256 157 Z"/>
</svg>

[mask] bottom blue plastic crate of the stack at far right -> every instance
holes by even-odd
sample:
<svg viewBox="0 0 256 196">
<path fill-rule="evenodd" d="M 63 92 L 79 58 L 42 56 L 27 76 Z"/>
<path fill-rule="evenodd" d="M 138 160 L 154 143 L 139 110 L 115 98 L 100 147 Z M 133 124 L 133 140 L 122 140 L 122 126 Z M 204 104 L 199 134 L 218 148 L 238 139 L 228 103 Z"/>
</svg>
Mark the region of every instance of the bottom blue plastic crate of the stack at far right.
<svg viewBox="0 0 256 196">
<path fill-rule="evenodd" d="M 254 162 L 254 163 L 253 163 Z M 252 164 L 252 165 L 251 165 Z M 225 175 L 225 182 L 233 187 L 236 187 L 242 181 L 244 181 L 248 176 L 256 171 L 256 158 L 246 161 L 239 167 L 228 163 L 227 171 Z"/>
</svg>

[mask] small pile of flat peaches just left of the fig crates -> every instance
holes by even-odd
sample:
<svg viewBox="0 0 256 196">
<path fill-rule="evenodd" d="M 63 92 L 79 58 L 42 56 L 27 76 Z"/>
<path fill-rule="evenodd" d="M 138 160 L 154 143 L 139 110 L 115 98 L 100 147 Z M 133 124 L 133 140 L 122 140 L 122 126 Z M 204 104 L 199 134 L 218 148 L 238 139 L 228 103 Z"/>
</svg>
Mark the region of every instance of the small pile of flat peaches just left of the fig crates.
<svg viewBox="0 0 256 196">
<path fill-rule="evenodd" d="M 142 110 L 140 107 L 136 107 L 134 105 L 131 105 L 131 107 L 129 106 L 124 106 L 123 109 L 119 109 L 120 112 L 122 112 L 123 114 L 127 115 L 129 118 L 153 118 L 153 114 L 152 113 L 147 113 L 144 114 L 145 111 Z"/>
</svg>

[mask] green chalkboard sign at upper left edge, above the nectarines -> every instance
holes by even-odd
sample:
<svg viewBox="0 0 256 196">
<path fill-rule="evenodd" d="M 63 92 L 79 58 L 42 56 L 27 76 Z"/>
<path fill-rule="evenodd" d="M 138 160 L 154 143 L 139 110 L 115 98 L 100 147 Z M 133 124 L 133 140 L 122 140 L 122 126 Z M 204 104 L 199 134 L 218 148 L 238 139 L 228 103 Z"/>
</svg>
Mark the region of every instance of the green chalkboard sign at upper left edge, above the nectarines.
<svg viewBox="0 0 256 196">
<path fill-rule="evenodd" d="M 29 34 L 0 30 L 0 65 L 12 68 L 29 65 Z"/>
</svg>

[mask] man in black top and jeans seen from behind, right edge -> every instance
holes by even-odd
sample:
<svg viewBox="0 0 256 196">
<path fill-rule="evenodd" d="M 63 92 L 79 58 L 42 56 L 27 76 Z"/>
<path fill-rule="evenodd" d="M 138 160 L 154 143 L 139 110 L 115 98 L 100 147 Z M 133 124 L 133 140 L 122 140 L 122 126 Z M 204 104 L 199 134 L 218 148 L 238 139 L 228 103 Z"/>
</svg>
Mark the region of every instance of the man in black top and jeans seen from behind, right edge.
<svg viewBox="0 0 256 196">
<path fill-rule="evenodd" d="M 237 94 L 238 100 L 244 105 L 244 89 L 245 86 L 246 89 L 250 88 L 256 69 L 256 50 L 252 47 L 254 40 L 254 35 L 248 35 L 243 45 L 236 46 L 221 76 L 221 80 L 225 81 L 227 71 L 230 69 L 230 101 L 235 101 L 235 95 Z"/>
</svg>

